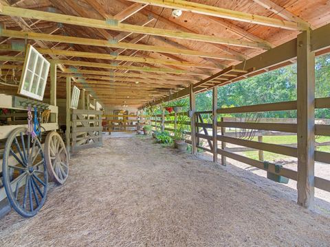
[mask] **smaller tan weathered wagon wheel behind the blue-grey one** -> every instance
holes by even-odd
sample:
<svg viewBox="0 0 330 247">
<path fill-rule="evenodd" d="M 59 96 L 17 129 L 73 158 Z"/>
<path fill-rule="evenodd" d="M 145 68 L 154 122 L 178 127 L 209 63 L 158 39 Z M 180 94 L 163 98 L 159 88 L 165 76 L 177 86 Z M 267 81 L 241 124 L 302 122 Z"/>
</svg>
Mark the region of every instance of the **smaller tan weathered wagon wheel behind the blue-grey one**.
<svg viewBox="0 0 330 247">
<path fill-rule="evenodd" d="M 60 134 L 55 131 L 47 134 L 44 148 L 50 178 L 56 183 L 63 185 L 69 175 L 69 162 L 67 150 Z"/>
</svg>

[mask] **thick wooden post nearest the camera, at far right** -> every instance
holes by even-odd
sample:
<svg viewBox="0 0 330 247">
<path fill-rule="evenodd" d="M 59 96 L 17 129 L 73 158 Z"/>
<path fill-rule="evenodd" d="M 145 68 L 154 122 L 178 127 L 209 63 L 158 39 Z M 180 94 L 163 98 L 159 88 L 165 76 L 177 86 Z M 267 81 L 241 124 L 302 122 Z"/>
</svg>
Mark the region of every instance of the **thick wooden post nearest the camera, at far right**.
<svg viewBox="0 0 330 247">
<path fill-rule="evenodd" d="M 315 53 L 311 31 L 297 37 L 298 204 L 314 206 Z"/>
</svg>

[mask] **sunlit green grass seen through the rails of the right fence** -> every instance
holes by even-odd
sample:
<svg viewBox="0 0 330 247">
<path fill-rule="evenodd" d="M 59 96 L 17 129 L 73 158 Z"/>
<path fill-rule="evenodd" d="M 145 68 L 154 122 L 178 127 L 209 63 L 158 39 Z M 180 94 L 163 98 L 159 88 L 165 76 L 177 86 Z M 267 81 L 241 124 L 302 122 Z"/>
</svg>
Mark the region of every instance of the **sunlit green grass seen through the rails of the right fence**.
<svg viewBox="0 0 330 247">
<path fill-rule="evenodd" d="M 253 141 L 258 141 L 258 137 L 254 137 Z M 330 141 L 330 137 L 319 137 L 316 139 L 318 143 L 323 143 L 326 141 Z M 296 136 L 274 136 L 274 137 L 263 137 L 263 142 L 265 143 L 273 143 L 273 144 L 293 144 L 297 143 Z M 316 150 L 322 152 L 330 152 L 330 146 L 322 146 L 317 147 Z M 249 151 L 243 152 L 245 156 L 248 158 L 259 159 L 259 152 L 258 151 Z M 285 156 L 282 154 L 274 154 L 272 152 L 263 152 L 263 158 L 265 161 L 276 161 L 283 158 L 290 158 L 289 156 Z"/>
</svg>

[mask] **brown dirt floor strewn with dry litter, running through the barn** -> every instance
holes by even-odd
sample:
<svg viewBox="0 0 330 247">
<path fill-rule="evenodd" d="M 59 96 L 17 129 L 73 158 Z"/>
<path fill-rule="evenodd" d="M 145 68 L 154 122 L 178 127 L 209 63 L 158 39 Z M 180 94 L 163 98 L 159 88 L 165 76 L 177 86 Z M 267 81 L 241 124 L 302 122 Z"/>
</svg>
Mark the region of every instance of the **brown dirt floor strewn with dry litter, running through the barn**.
<svg viewBox="0 0 330 247">
<path fill-rule="evenodd" d="M 330 218 L 281 196 L 291 188 L 152 139 L 105 139 L 70 169 L 38 215 L 0 220 L 0 246 L 330 245 Z"/>
</svg>

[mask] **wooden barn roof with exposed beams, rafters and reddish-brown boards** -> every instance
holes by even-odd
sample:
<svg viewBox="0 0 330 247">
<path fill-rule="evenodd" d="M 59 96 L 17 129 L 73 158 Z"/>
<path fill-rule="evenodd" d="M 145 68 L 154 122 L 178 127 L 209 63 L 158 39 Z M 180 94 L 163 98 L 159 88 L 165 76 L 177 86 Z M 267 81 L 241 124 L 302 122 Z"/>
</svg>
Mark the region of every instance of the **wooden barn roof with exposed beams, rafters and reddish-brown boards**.
<svg viewBox="0 0 330 247">
<path fill-rule="evenodd" d="M 65 97 L 65 77 L 72 75 L 104 106 L 140 107 L 190 84 L 203 91 L 239 80 L 254 68 L 233 65 L 330 22 L 327 0 L 0 3 L 2 74 L 15 69 L 19 76 L 23 47 L 30 43 L 61 64 L 59 97 Z M 182 15 L 173 17 L 173 9 Z M 12 87 L 0 90 L 16 93 Z"/>
</svg>

